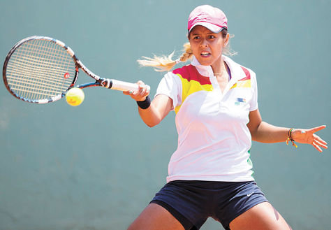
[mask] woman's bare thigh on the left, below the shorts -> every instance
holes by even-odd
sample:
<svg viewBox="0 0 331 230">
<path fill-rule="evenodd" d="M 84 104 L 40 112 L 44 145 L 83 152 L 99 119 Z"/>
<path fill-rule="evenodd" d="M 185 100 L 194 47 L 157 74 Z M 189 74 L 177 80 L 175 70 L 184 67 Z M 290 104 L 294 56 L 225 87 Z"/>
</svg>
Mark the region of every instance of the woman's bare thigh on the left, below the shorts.
<svg viewBox="0 0 331 230">
<path fill-rule="evenodd" d="M 182 224 L 168 210 L 156 203 L 150 203 L 128 230 L 184 230 Z"/>
</svg>

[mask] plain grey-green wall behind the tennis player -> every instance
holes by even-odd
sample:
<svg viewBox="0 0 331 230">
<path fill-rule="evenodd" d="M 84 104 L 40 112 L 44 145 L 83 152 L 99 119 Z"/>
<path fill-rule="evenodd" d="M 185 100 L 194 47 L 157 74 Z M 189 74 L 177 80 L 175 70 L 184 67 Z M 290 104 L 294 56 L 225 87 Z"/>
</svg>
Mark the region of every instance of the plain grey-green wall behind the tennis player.
<svg viewBox="0 0 331 230">
<path fill-rule="evenodd" d="M 142 79 L 154 95 L 162 74 L 136 59 L 179 55 L 187 17 L 203 3 L 228 16 L 233 59 L 256 71 L 263 120 L 330 126 L 329 0 L 1 0 L 0 59 L 22 38 L 51 36 L 99 76 Z M 84 92 L 76 108 L 34 105 L 0 84 L 0 230 L 126 229 L 165 183 L 174 113 L 151 129 L 121 92 Z M 330 127 L 319 135 L 330 141 Z M 253 143 L 251 157 L 258 185 L 293 229 L 330 229 L 330 150 Z M 222 227 L 209 219 L 202 229 Z"/>
</svg>

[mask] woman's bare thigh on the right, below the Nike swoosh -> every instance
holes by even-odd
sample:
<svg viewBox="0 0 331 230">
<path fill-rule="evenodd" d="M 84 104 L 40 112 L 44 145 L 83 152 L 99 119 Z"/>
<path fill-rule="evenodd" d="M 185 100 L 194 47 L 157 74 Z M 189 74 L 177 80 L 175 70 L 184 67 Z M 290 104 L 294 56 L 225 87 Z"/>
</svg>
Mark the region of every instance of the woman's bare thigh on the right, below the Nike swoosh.
<svg viewBox="0 0 331 230">
<path fill-rule="evenodd" d="M 284 218 L 268 202 L 259 203 L 230 222 L 231 230 L 291 229 Z"/>
</svg>

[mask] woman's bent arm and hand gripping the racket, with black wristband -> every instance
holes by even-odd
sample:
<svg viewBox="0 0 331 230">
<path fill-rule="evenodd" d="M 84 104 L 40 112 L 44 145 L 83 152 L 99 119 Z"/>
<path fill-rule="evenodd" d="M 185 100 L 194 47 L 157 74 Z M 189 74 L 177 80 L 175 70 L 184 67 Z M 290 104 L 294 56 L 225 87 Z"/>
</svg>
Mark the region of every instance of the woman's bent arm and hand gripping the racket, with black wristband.
<svg viewBox="0 0 331 230">
<path fill-rule="evenodd" d="M 149 92 L 147 92 L 147 87 L 145 87 L 144 82 L 137 82 L 140 89 L 136 92 L 123 92 L 126 95 L 131 96 L 135 101 L 145 101 Z M 159 124 L 163 118 L 168 115 L 172 108 L 172 99 L 169 96 L 164 94 L 156 95 L 151 105 L 142 109 L 138 106 L 139 115 L 145 124 L 149 127 L 154 127 L 156 124 Z"/>
</svg>

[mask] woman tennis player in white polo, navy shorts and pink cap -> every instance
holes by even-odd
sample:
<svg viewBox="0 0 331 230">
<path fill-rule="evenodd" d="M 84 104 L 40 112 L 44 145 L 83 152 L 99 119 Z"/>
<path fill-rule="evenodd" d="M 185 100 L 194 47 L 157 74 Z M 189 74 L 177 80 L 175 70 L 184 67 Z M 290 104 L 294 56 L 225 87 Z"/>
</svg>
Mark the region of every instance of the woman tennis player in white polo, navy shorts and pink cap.
<svg viewBox="0 0 331 230">
<path fill-rule="evenodd" d="M 256 74 L 225 56 L 228 23 L 219 8 L 195 8 L 188 38 L 176 61 L 172 55 L 140 61 L 168 71 L 192 59 L 165 74 L 152 101 L 142 81 L 140 90 L 124 92 L 137 101 L 149 127 L 175 110 L 178 132 L 166 185 L 128 229 L 200 229 L 208 217 L 225 229 L 290 229 L 254 181 L 251 140 L 307 143 L 321 152 L 327 143 L 314 133 L 325 126 L 290 129 L 262 121 Z"/>
</svg>

